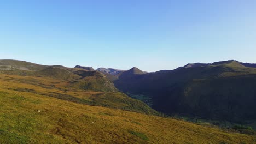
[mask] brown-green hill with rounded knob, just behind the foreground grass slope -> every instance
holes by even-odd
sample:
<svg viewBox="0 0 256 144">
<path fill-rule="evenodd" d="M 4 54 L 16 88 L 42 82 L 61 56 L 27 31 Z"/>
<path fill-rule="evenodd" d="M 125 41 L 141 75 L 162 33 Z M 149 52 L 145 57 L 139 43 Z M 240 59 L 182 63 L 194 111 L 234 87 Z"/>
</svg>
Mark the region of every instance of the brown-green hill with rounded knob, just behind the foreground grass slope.
<svg viewBox="0 0 256 144">
<path fill-rule="evenodd" d="M 11 62 L 15 63 L 13 60 Z M 25 63 L 24 65 L 31 64 L 28 62 L 22 63 Z M 159 115 L 158 112 L 142 101 L 132 99 L 124 93 L 118 92 L 113 83 L 98 71 L 66 68 L 61 65 L 44 65 L 42 70 L 0 70 L 1 74 L 9 77 L 8 79 L 11 80 L 9 85 L 17 85 L 13 89 L 18 92 L 36 93 L 79 104 Z M 11 82 L 14 82 L 14 84 Z M 38 88 L 33 89 L 34 86 L 38 86 Z M 67 91 L 74 93 L 68 94 Z M 80 97 L 80 95 L 83 95 L 83 97 Z"/>
</svg>

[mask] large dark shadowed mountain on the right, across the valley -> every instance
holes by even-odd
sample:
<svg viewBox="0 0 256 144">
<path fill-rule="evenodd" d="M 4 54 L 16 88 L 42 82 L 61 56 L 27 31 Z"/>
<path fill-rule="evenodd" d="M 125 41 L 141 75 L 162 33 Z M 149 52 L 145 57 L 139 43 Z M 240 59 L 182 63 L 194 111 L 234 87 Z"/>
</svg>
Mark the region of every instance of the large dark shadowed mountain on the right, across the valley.
<svg viewBox="0 0 256 144">
<path fill-rule="evenodd" d="M 187 66 L 119 76 L 113 82 L 120 91 L 168 115 L 181 113 L 233 122 L 256 119 L 255 68 L 238 61 Z"/>
</svg>

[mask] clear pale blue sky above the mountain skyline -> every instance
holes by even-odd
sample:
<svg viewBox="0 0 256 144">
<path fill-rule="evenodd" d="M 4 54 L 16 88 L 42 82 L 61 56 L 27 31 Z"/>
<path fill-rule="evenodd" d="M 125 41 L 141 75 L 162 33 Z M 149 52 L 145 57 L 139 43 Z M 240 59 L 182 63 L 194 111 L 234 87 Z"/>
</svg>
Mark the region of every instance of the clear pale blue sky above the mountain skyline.
<svg viewBox="0 0 256 144">
<path fill-rule="evenodd" d="M 1 1 L 0 50 L 0 59 L 144 71 L 256 63 L 256 1 Z"/>
</svg>

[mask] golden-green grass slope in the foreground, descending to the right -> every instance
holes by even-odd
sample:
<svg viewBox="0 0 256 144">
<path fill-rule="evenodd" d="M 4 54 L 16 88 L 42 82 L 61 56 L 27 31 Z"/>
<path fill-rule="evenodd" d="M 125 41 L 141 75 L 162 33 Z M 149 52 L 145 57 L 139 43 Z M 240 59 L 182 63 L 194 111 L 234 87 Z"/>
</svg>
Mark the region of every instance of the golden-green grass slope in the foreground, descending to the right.
<svg viewBox="0 0 256 144">
<path fill-rule="evenodd" d="M 38 91 L 37 88 L 33 89 Z M 40 103 L 32 103 L 36 100 Z M 171 118 L 18 92 L 5 89 L 3 85 L 0 86 L 0 105 L 0 129 L 5 133 L 1 137 L 2 143 L 8 143 L 10 140 L 14 143 L 183 143 L 185 141 L 218 143 L 225 140 L 230 143 L 240 141 L 249 143 L 253 141 L 253 137 L 249 135 L 227 133 L 216 128 Z M 9 140 L 9 137 L 13 138 Z"/>
</svg>

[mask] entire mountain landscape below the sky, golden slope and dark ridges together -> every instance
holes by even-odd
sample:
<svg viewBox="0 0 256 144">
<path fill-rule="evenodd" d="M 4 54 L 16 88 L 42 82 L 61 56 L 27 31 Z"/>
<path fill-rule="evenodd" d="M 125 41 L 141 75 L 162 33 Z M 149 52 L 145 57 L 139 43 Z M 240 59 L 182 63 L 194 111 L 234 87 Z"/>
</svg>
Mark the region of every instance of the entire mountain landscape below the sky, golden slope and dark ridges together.
<svg viewBox="0 0 256 144">
<path fill-rule="evenodd" d="M 238 61 L 146 73 L 0 60 L 0 143 L 254 143 L 255 86 Z"/>
</svg>

